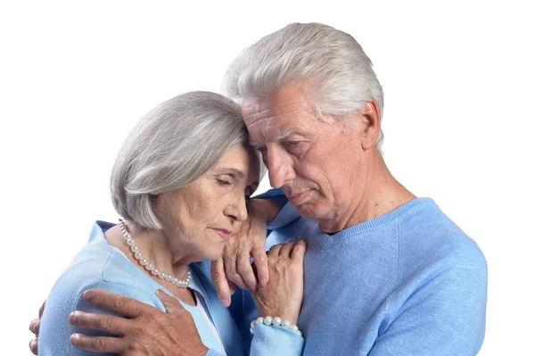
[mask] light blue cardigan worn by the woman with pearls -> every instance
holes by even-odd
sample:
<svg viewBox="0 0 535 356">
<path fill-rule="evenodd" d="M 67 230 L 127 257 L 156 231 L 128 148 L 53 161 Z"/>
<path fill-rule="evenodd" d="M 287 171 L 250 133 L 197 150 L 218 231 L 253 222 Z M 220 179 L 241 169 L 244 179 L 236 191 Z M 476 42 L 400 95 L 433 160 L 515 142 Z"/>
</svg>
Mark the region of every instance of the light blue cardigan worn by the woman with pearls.
<svg viewBox="0 0 535 356">
<path fill-rule="evenodd" d="M 126 295 L 138 301 L 145 302 L 160 310 L 165 310 L 156 296 L 160 285 L 143 270 L 129 261 L 126 256 L 111 247 L 104 238 L 104 232 L 111 228 L 110 223 L 97 221 L 91 233 L 90 242 L 77 254 L 70 266 L 53 286 L 46 302 L 43 314 L 38 348 L 39 355 L 88 355 L 90 352 L 80 351 L 70 345 L 69 337 L 73 333 L 87 335 L 103 335 L 95 331 L 78 329 L 70 326 L 68 318 L 73 310 L 85 310 L 110 313 L 108 310 L 97 309 L 83 299 L 87 289 L 99 288 L 116 294 Z M 243 291 L 235 294 L 233 306 L 226 309 L 218 300 L 215 287 L 210 279 L 210 262 L 193 263 L 191 266 L 193 279 L 190 283 L 197 294 L 201 295 L 199 302 L 207 311 L 215 325 L 228 355 L 300 355 L 304 340 L 299 335 L 283 327 L 255 327 L 255 335 L 249 332 L 250 322 L 244 320 L 245 315 L 251 315 L 254 304 L 240 305 Z M 208 355 L 219 355 L 220 346 L 213 333 L 202 317 L 199 307 L 182 303 L 195 322 L 195 326 L 202 338 L 202 343 L 210 348 Z"/>
</svg>

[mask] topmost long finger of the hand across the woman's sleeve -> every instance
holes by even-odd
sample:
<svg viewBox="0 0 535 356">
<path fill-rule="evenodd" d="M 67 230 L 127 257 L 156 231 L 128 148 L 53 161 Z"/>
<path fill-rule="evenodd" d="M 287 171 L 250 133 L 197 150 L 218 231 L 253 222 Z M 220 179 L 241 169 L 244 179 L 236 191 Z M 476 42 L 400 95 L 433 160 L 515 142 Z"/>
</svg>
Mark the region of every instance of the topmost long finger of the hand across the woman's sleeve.
<svg viewBox="0 0 535 356">
<path fill-rule="evenodd" d="M 106 292 L 101 289 L 89 289 L 84 293 L 86 302 L 107 310 L 117 311 L 127 317 L 136 318 L 139 314 L 149 312 L 151 307 L 144 302 L 136 301 L 119 294 Z"/>
</svg>

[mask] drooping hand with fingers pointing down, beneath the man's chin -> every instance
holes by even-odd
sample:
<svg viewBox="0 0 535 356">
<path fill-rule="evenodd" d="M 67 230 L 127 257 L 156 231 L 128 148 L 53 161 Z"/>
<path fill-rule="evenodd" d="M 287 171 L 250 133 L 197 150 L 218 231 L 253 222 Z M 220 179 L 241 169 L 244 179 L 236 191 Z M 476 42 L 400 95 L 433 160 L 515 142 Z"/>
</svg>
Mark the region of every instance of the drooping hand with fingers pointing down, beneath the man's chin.
<svg viewBox="0 0 535 356">
<path fill-rule="evenodd" d="M 279 203 L 264 199 L 252 199 L 247 204 L 248 216 L 242 228 L 230 236 L 222 258 L 212 262 L 211 274 L 218 289 L 218 296 L 225 306 L 230 305 L 230 296 L 236 286 L 255 292 L 266 286 L 269 280 L 266 255 L 267 225 L 280 211 Z M 254 268 L 251 266 L 254 259 Z"/>
</svg>

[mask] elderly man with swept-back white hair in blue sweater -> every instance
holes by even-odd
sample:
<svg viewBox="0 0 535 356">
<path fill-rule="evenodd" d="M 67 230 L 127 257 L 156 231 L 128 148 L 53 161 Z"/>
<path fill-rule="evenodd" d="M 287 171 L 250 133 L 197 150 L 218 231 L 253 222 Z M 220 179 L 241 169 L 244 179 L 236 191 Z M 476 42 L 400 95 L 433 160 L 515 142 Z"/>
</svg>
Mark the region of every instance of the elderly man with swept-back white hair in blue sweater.
<svg viewBox="0 0 535 356">
<path fill-rule="evenodd" d="M 268 227 L 267 245 L 308 243 L 298 323 L 303 353 L 477 353 L 485 259 L 431 199 L 417 198 L 387 169 L 383 90 L 355 39 L 321 24 L 291 24 L 244 50 L 224 89 L 242 103 L 271 186 L 288 200 Z M 226 261 L 226 275 L 255 289 L 251 270 L 233 272 L 238 260 Z M 259 269 L 264 277 L 261 261 Z M 226 300 L 225 280 L 218 287 Z M 160 333 L 188 343 L 179 321 Z M 173 354 L 173 342 L 159 347 Z"/>
</svg>

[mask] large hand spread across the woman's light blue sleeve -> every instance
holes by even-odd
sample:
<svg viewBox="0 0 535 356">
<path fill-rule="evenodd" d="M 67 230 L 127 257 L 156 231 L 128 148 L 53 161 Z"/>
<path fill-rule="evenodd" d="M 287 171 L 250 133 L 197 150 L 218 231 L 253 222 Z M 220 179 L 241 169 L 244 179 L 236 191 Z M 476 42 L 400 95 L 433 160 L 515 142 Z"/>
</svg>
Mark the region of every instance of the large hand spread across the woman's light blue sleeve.
<svg viewBox="0 0 535 356">
<path fill-rule="evenodd" d="M 180 302 L 161 290 L 158 298 L 167 314 L 158 308 L 134 299 L 90 289 L 84 293 L 86 302 L 128 317 L 73 311 L 69 323 L 75 327 L 102 330 L 118 337 L 73 334 L 70 344 L 89 352 L 111 352 L 121 355 L 205 355 L 193 318 Z"/>
</svg>

